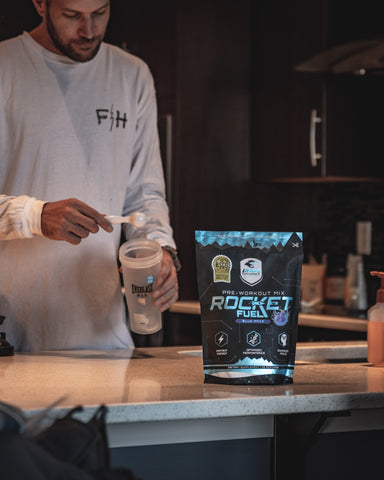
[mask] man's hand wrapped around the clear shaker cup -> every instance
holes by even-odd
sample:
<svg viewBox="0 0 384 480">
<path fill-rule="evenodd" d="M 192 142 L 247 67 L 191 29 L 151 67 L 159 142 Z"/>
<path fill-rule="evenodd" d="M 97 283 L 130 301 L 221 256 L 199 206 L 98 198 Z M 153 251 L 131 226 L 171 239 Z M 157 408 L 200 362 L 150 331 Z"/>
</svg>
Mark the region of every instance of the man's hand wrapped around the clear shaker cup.
<svg viewBox="0 0 384 480">
<path fill-rule="evenodd" d="M 152 292 L 153 305 L 164 312 L 179 298 L 179 282 L 177 280 L 176 268 L 171 255 L 163 250 L 160 273 Z"/>
</svg>

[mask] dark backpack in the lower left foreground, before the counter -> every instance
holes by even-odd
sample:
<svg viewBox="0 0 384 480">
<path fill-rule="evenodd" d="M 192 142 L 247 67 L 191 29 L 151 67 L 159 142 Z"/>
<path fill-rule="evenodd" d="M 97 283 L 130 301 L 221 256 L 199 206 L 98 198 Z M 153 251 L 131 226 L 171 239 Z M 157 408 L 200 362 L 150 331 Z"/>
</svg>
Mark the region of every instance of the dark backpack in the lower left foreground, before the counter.
<svg viewBox="0 0 384 480">
<path fill-rule="evenodd" d="M 112 468 L 106 434 L 107 407 L 88 422 L 78 406 L 38 433 L 28 433 L 21 410 L 0 402 L 2 478 L 12 480 L 139 480 L 130 469 Z"/>
</svg>

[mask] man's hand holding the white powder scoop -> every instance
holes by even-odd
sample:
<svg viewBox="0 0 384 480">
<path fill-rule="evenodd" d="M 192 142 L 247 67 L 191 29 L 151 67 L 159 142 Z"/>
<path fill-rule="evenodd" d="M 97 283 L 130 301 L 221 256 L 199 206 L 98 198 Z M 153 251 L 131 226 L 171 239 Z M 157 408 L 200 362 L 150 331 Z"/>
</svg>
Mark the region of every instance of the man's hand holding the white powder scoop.
<svg viewBox="0 0 384 480">
<path fill-rule="evenodd" d="M 101 213 L 75 198 L 48 202 L 41 214 L 41 231 L 45 237 L 73 245 L 78 245 L 90 233 L 97 233 L 99 226 L 107 232 L 113 230 Z"/>
</svg>

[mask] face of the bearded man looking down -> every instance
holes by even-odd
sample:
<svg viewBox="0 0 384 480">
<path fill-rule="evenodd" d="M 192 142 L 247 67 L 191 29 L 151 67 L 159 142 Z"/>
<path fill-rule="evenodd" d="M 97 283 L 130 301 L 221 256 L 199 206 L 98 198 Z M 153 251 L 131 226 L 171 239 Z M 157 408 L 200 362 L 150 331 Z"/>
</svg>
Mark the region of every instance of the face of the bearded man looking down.
<svg viewBox="0 0 384 480">
<path fill-rule="evenodd" d="M 109 0 L 46 0 L 45 26 L 58 53 L 88 62 L 99 51 L 110 11 Z"/>
</svg>

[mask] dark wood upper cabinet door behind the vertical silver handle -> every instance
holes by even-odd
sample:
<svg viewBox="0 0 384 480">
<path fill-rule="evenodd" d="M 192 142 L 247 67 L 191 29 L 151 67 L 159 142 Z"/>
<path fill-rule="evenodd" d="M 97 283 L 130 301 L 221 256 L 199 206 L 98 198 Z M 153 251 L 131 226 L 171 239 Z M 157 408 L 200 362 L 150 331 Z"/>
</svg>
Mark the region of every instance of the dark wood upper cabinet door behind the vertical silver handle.
<svg viewBox="0 0 384 480">
<path fill-rule="evenodd" d="M 309 160 L 309 116 L 322 107 L 322 81 L 295 72 L 323 50 L 322 1 L 254 2 L 252 25 L 252 177 L 320 175 Z"/>
</svg>

